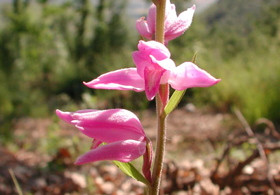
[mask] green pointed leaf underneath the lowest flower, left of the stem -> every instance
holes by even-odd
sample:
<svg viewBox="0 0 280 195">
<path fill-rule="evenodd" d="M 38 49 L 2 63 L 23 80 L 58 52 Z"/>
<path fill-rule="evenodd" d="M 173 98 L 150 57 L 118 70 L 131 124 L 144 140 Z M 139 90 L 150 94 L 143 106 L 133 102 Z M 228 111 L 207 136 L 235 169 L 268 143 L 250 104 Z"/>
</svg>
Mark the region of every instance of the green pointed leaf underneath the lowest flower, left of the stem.
<svg viewBox="0 0 280 195">
<path fill-rule="evenodd" d="M 134 168 L 134 166 L 131 163 L 123 163 L 120 161 L 113 162 L 115 163 L 115 165 L 117 165 L 118 168 L 120 168 L 120 170 L 122 170 L 128 176 L 131 176 L 133 179 L 136 179 L 137 181 L 144 183 L 148 187 L 151 187 L 149 181 L 147 181 L 147 179 L 145 179 L 144 176 L 140 174 L 140 172 L 138 172 L 138 170 L 136 170 L 136 168 Z"/>
</svg>

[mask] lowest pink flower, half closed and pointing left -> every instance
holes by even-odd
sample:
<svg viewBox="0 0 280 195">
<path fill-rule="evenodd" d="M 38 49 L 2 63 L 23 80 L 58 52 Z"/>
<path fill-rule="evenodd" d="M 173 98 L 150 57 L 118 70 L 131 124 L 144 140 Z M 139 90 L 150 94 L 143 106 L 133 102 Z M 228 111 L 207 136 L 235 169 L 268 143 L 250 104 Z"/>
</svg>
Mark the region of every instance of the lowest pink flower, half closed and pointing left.
<svg viewBox="0 0 280 195">
<path fill-rule="evenodd" d="M 77 165 L 103 160 L 129 162 L 146 151 L 146 135 L 138 117 L 130 111 L 81 110 L 71 113 L 56 110 L 56 114 L 93 138 L 91 150 L 77 158 Z M 99 146 L 102 142 L 107 144 Z"/>
</svg>

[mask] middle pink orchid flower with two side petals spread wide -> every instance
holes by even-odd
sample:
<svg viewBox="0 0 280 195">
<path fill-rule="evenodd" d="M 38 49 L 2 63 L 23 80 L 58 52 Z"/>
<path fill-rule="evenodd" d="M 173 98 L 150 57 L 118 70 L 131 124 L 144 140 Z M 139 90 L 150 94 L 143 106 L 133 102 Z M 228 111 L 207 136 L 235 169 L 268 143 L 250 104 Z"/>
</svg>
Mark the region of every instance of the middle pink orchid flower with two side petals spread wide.
<svg viewBox="0 0 280 195">
<path fill-rule="evenodd" d="M 138 49 L 132 53 L 137 68 L 105 73 L 84 84 L 92 89 L 145 91 L 147 99 L 153 100 L 160 84 L 167 82 L 173 89 L 181 91 L 191 87 L 210 87 L 220 81 L 192 62 L 183 62 L 176 67 L 162 43 L 140 41 Z"/>
</svg>

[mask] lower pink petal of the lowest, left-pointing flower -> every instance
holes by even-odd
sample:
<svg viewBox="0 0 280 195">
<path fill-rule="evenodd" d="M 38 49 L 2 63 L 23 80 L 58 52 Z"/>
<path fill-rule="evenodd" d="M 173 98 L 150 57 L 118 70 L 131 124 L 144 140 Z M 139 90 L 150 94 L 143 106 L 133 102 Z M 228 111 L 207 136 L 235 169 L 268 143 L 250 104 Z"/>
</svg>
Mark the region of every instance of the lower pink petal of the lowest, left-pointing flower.
<svg viewBox="0 0 280 195">
<path fill-rule="evenodd" d="M 105 146 L 90 150 L 77 158 L 76 165 L 95 161 L 121 161 L 129 162 L 142 156 L 146 150 L 146 141 L 125 140 L 116 141 Z"/>
</svg>

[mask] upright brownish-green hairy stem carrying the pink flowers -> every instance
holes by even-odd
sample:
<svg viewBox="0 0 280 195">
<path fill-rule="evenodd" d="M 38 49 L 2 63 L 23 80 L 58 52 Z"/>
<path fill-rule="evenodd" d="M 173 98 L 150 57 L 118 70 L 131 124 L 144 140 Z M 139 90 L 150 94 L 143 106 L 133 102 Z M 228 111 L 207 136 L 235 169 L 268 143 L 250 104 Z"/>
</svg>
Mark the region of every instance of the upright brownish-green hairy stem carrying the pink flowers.
<svg viewBox="0 0 280 195">
<path fill-rule="evenodd" d="M 165 16 L 166 0 L 158 0 L 158 3 L 156 5 L 157 5 L 157 14 L 156 14 L 155 41 L 164 44 L 164 16 Z M 168 90 L 164 90 L 163 93 L 168 93 Z M 165 115 L 162 115 L 164 104 L 161 101 L 160 95 L 158 93 L 156 95 L 156 106 L 157 106 L 157 148 L 155 150 L 155 163 L 153 166 L 153 174 L 152 174 L 152 180 L 153 180 L 152 190 L 149 192 L 149 194 L 152 195 L 157 195 L 160 192 L 160 181 L 162 178 L 162 168 L 164 165 L 164 150 L 165 150 L 165 142 L 166 142 L 166 117 Z"/>
</svg>

